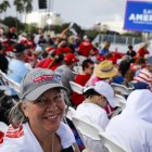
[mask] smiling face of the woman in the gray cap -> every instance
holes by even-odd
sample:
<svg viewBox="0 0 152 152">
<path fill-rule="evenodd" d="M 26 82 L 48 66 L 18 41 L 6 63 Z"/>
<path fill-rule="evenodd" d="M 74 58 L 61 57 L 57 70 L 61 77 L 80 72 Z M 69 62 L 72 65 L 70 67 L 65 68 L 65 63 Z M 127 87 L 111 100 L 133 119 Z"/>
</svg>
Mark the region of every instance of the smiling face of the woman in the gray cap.
<svg viewBox="0 0 152 152">
<path fill-rule="evenodd" d="M 60 89 L 49 89 L 35 101 L 25 101 L 22 105 L 33 131 L 41 129 L 54 132 L 60 127 L 65 103 Z"/>
</svg>

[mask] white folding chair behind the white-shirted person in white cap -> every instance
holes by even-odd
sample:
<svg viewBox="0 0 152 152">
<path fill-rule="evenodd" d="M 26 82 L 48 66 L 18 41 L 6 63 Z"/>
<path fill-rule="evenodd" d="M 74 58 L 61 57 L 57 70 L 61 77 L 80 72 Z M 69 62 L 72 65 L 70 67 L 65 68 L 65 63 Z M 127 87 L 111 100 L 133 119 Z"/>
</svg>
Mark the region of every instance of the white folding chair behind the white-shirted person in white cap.
<svg viewBox="0 0 152 152">
<path fill-rule="evenodd" d="M 103 144 L 102 143 L 102 140 L 103 139 L 100 139 L 99 137 L 99 132 L 100 131 L 103 131 L 102 128 L 100 128 L 99 126 L 97 126 L 96 124 L 91 124 L 90 122 L 87 122 L 83 118 L 79 118 L 77 117 L 76 115 L 72 117 L 73 119 L 73 124 L 75 125 L 85 147 L 86 147 L 86 150 L 87 152 L 93 152 L 90 147 L 93 147 L 93 144 L 91 145 L 88 145 L 86 143 L 86 137 L 88 139 L 90 139 L 91 141 L 94 141 L 94 143 L 97 143 L 98 145 L 100 144 L 100 147 L 102 147 Z M 105 149 L 104 147 L 102 147 L 102 149 Z M 100 149 L 99 149 L 100 151 Z M 106 149 L 105 149 L 106 151 Z"/>
</svg>

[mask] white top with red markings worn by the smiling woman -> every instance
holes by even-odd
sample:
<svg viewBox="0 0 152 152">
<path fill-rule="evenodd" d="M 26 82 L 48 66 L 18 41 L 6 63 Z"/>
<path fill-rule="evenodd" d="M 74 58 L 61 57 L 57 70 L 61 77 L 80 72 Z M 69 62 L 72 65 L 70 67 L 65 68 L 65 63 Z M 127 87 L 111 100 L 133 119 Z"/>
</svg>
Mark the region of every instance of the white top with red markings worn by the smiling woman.
<svg viewBox="0 0 152 152">
<path fill-rule="evenodd" d="M 75 142 L 72 130 L 63 123 L 61 123 L 56 134 L 61 138 L 63 149 L 71 147 Z M 3 143 L 0 144 L 0 152 L 43 152 L 43 150 L 26 123 L 17 129 L 12 126 L 9 127 L 3 138 Z"/>
</svg>

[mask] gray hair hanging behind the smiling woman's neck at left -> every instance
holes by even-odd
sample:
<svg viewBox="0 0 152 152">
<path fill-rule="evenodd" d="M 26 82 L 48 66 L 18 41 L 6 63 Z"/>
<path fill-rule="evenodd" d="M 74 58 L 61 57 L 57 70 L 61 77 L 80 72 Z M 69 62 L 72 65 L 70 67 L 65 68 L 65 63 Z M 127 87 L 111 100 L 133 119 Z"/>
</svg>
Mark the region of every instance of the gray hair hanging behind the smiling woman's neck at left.
<svg viewBox="0 0 152 152">
<path fill-rule="evenodd" d="M 22 111 L 22 103 L 21 101 L 16 103 L 9 113 L 9 122 L 14 128 L 17 128 L 20 124 L 24 124 L 28 121 Z"/>
</svg>

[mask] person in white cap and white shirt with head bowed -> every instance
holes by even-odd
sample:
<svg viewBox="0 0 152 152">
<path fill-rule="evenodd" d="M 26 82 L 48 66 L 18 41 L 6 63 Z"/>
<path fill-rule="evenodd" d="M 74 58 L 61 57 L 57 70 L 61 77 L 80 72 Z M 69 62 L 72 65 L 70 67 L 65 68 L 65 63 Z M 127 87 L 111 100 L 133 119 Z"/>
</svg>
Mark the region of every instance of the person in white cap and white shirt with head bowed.
<svg viewBox="0 0 152 152">
<path fill-rule="evenodd" d="M 84 94 L 86 96 L 86 100 L 77 106 L 76 115 L 79 118 L 98 125 L 104 130 L 109 123 L 104 107 L 107 103 L 113 107 L 115 106 L 112 87 L 105 81 L 98 81 L 94 86 L 86 88 Z M 88 147 L 91 145 L 90 149 L 93 152 L 105 152 L 103 145 L 101 143 L 99 144 L 98 141 L 93 142 L 85 138 L 85 142 Z"/>
</svg>

